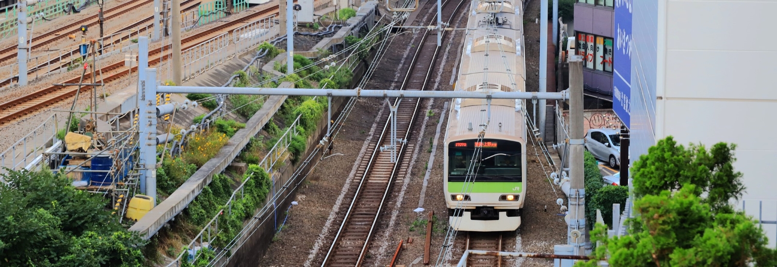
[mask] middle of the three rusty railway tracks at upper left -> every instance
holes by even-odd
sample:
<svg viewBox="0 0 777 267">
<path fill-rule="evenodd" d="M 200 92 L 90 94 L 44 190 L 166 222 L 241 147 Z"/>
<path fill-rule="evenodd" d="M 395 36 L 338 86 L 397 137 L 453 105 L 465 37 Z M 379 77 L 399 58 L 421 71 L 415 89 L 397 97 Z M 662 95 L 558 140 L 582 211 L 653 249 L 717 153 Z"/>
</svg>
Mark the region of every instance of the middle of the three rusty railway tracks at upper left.
<svg viewBox="0 0 777 267">
<path fill-rule="evenodd" d="M 196 9 L 198 5 L 200 5 L 200 1 L 199 0 L 186 0 L 186 1 L 181 3 L 181 8 L 182 8 L 181 12 L 183 13 L 183 12 L 188 12 L 191 9 Z M 152 16 L 148 16 L 145 19 L 138 20 L 135 23 L 132 23 L 132 24 L 127 25 L 127 26 L 124 26 L 123 28 L 118 29 L 117 31 L 115 31 L 113 33 L 110 33 L 108 36 L 112 36 L 112 35 L 115 35 L 115 34 L 126 32 L 124 34 L 121 34 L 120 36 L 115 36 L 115 37 L 111 38 L 113 40 L 113 42 L 108 40 L 107 43 L 103 43 L 103 48 L 102 49 L 103 50 L 109 50 L 113 46 L 119 45 L 120 43 L 125 42 L 125 41 L 129 41 L 129 37 L 133 33 L 135 33 L 136 36 L 140 35 L 141 33 L 145 32 L 145 29 L 148 29 L 149 26 L 153 26 L 153 20 L 154 20 L 154 16 L 153 15 Z M 149 22 L 151 22 L 151 23 L 149 23 Z M 144 25 L 144 23 L 149 23 L 149 24 L 145 24 L 145 27 L 139 28 L 139 26 Z M 137 30 L 137 32 L 134 32 L 133 29 L 138 29 L 138 30 Z M 105 42 L 105 41 L 103 41 L 103 42 Z M 79 52 L 79 48 L 78 48 L 78 46 L 76 46 L 75 48 L 72 48 L 72 50 L 69 51 L 68 54 L 65 55 L 64 57 L 52 57 L 49 61 L 46 61 L 44 63 L 40 63 L 40 64 L 37 64 L 36 66 L 33 66 L 32 68 L 30 68 L 27 71 L 27 75 L 30 75 L 30 76 L 33 76 L 33 77 L 37 77 L 39 75 L 45 75 L 45 74 L 47 74 L 47 73 L 49 73 L 51 71 L 57 71 L 57 70 L 60 70 L 61 68 L 67 68 L 68 65 L 71 63 L 71 61 L 73 59 L 75 59 L 76 57 L 80 57 L 80 56 L 81 55 L 80 55 L 80 52 Z M 61 63 L 57 64 L 57 65 L 54 65 L 52 67 L 52 64 L 57 63 L 57 62 L 61 62 Z M 2 81 L 0 81 L 0 88 L 5 87 L 7 85 L 10 85 L 13 81 L 16 81 L 18 79 L 19 79 L 19 77 L 16 76 L 16 77 L 13 77 L 13 78 L 7 78 L 5 80 L 2 80 Z"/>
</svg>

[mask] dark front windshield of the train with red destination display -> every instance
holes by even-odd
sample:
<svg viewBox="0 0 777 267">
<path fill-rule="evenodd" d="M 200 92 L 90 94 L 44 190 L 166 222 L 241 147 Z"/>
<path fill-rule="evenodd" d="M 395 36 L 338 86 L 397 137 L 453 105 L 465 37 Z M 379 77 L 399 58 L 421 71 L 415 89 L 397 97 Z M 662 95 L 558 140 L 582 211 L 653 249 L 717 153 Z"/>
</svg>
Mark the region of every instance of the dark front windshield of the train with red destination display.
<svg viewBox="0 0 777 267">
<path fill-rule="evenodd" d="M 454 141 L 448 144 L 448 181 L 464 182 L 472 173 L 479 182 L 521 182 L 522 158 L 521 143 L 515 141 Z"/>
</svg>

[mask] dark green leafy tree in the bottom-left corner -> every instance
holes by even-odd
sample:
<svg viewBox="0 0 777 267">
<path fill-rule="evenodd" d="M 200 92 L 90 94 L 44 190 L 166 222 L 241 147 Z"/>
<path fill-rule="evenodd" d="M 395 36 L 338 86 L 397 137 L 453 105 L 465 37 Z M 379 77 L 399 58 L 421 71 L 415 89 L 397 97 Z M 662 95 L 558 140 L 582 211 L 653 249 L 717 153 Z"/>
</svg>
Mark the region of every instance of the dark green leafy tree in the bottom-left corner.
<svg viewBox="0 0 777 267">
<path fill-rule="evenodd" d="M 145 242 L 121 227 L 102 195 L 77 190 L 49 171 L 4 176 L 0 265 L 141 265 Z"/>
</svg>

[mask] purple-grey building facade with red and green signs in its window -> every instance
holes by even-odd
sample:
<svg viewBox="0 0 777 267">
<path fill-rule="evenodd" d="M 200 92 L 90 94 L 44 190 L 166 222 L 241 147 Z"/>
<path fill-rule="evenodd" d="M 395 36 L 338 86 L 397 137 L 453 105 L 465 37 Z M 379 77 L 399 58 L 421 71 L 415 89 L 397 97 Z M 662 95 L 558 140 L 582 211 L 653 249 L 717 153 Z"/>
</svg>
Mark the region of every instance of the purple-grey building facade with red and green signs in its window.
<svg viewBox="0 0 777 267">
<path fill-rule="evenodd" d="M 574 7 L 577 54 L 584 57 L 587 94 L 611 100 L 614 0 L 577 0 Z"/>
</svg>

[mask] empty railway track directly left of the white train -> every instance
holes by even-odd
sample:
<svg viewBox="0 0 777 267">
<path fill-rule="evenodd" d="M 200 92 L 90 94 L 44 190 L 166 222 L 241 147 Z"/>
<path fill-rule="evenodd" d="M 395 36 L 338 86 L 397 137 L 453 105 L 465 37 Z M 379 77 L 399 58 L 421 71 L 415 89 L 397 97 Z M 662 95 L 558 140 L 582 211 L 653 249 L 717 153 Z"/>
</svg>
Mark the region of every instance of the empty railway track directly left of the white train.
<svg viewBox="0 0 777 267">
<path fill-rule="evenodd" d="M 444 2 L 443 16 L 449 20 L 453 17 L 465 0 L 454 0 L 453 5 Z M 434 16 L 430 21 L 437 19 Z M 437 32 L 427 30 L 419 43 L 416 43 L 416 54 L 410 61 L 409 70 L 402 82 L 404 90 L 423 91 L 430 83 L 430 74 L 434 69 L 434 61 L 437 58 Z M 418 45 L 420 44 L 420 45 Z M 392 105 L 396 107 L 395 118 L 388 113 L 380 118 L 385 121 L 383 131 L 379 138 L 374 140 L 368 148 L 370 158 L 363 158 L 359 163 L 356 175 L 361 177 L 360 182 L 354 183 L 355 189 L 350 196 L 351 203 L 344 210 L 345 216 L 340 224 L 332 245 L 322 262 L 322 266 L 360 266 L 365 262 L 365 256 L 369 248 L 372 234 L 377 227 L 384 203 L 388 202 L 392 184 L 402 182 L 400 179 L 408 172 L 407 165 L 409 155 L 416 148 L 409 141 L 420 104 L 423 99 L 392 99 Z M 391 162 L 389 151 L 380 151 L 380 147 L 389 146 L 391 142 L 392 120 L 395 123 L 396 138 L 402 138 L 406 142 L 397 142 L 397 158 Z"/>
</svg>

